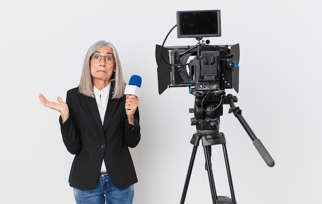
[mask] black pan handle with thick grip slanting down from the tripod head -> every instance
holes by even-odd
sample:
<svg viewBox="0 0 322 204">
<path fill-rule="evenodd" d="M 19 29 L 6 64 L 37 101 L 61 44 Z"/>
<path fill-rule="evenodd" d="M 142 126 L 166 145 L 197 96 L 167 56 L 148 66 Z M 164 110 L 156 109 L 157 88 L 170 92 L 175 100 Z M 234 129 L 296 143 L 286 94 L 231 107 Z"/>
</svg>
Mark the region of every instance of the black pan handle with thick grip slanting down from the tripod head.
<svg viewBox="0 0 322 204">
<path fill-rule="evenodd" d="M 265 147 L 262 144 L 262 142 L 259 139 L 257 139 L 257 137 L 254 134 L 254 132 L 252 131 L 251 127 L 249 127 L 249 125 L 245 121 L 244 117 L 241 115 L 241 109 L 239 107 L 235 106 L 234 99 L 236 99 L 236 98 L 234 98 L 234 96 L 232 96 L 231 94 L 228 94 L 227 98 L 228 98 L 228 102 L 229 102 L 229 105 L 230 105 L 228 113 L 234 113 L 234 115 L 239 120 L 241 125 L 244 127 L 244 129 L 247 132 L 247 134 L 249 135 L 249 137 L 251 137 L 254 146 L 256 147 L 257 151 L 262 156 L 262 158 L 264 159 L 266 164 L 268 166 L 270 166 L 270 167 L 273 167 L 274 164 L 275 164 L 273 158 L 271 157 L 269 152 L 267 152 L 267 150 L 265 149 Z"/>
</svg>

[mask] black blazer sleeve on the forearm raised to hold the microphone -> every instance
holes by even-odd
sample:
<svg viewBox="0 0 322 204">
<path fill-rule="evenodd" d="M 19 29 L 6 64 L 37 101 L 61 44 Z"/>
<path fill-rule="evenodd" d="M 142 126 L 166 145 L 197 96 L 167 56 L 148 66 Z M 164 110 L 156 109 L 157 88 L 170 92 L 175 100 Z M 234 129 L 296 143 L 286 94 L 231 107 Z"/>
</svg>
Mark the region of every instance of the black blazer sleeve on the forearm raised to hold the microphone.
<svg viewBox="0 0 322 204">
<path fill-rule="evenodd" d="M 126 118 L 126 120 L 128 119 Z M 126 121 L 124 141 L 129 147 L 133 148 L 137 146 L 140 139 L 141 139 L 140 117 L 139 117 L 139 110 L 137 108 L 134 113 L 134 124 L 133 125 L 129 124 Z"/>
</svg>

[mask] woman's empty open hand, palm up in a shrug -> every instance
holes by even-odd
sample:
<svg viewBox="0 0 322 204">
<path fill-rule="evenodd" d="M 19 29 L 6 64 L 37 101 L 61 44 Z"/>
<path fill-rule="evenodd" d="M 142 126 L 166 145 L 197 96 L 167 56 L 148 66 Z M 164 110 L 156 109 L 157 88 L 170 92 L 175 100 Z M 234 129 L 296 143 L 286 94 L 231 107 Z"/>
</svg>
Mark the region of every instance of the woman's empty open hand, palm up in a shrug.
<svg viewBox="0 0 322 204">
<path fill-rule="evenodd" d="M 51 109 L 58 110 L 62 117 L 62 122 L 64 123 L 69 117 L 69 109 L 67 103 L 65 103 L 62 98 L 57 97 L 57 102 L 48 101 L 42 94 L 38 96 L 39 100 L 44 104 L 46 107 L 50 107 Z"/>
</svg>

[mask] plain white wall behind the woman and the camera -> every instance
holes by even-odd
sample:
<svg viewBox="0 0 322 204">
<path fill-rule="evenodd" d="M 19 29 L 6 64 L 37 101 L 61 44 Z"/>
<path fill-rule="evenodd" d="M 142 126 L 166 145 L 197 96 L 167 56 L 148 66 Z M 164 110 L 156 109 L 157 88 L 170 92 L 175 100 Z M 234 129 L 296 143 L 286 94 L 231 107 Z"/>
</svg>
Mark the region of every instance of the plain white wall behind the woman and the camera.
<svg viewBox="0 0 322 204">
<path fill-rule="evenodd" d="M 131 149 L 139 182 L 135 204 L 180 203 L 193 145 L 194 98 L 188 88 L 158 94 L 155 45 L 176 24 L 176 11 L 221 10 L 222 36 L 240 44 L 242 114 L 275 160 L 270 168 L 224 106 L 237 202 L 317 203 L 322 171 L 320 1 L 2 1 L 0 3 L 0 202 L 75 203 L 68 175 L 73 155 L 61 139 L 59 113 L 44 107 L 78 85 L 87 49 L 112 42 L 126 81 L 142 77 L 141 141 Z M 195 45 L 177 39 L 166 46 Z M 228 106 L 228 105 L 227 105 Z M 199 147 L 185 203 L 211 203 Z M 223 155 L 212 147 L 218 195 L 230 197 Z"/>
</svg>

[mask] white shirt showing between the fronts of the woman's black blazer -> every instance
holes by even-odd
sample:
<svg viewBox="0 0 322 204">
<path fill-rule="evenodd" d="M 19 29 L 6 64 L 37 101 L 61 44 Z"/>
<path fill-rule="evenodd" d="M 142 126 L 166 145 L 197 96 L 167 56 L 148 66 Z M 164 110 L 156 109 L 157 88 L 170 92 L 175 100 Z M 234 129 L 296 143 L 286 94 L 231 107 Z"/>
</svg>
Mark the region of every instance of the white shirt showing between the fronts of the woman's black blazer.
<svg viewBox="0 0 322 204">
<path fill-rule="evenodd" d="M 108 107 L 110 89 L 111 89 L 111 83 L 108 86 L 106 86 L 105 88 L 103 88 L 102 90 L 99 90 L 95 86 L 93 88 L 99 116 L 101 117 L 102 125 L 104 123 L 106 108 Z M 102 161 L 101 172 L 106 172 L 104 159 Z"/>
</svg>

